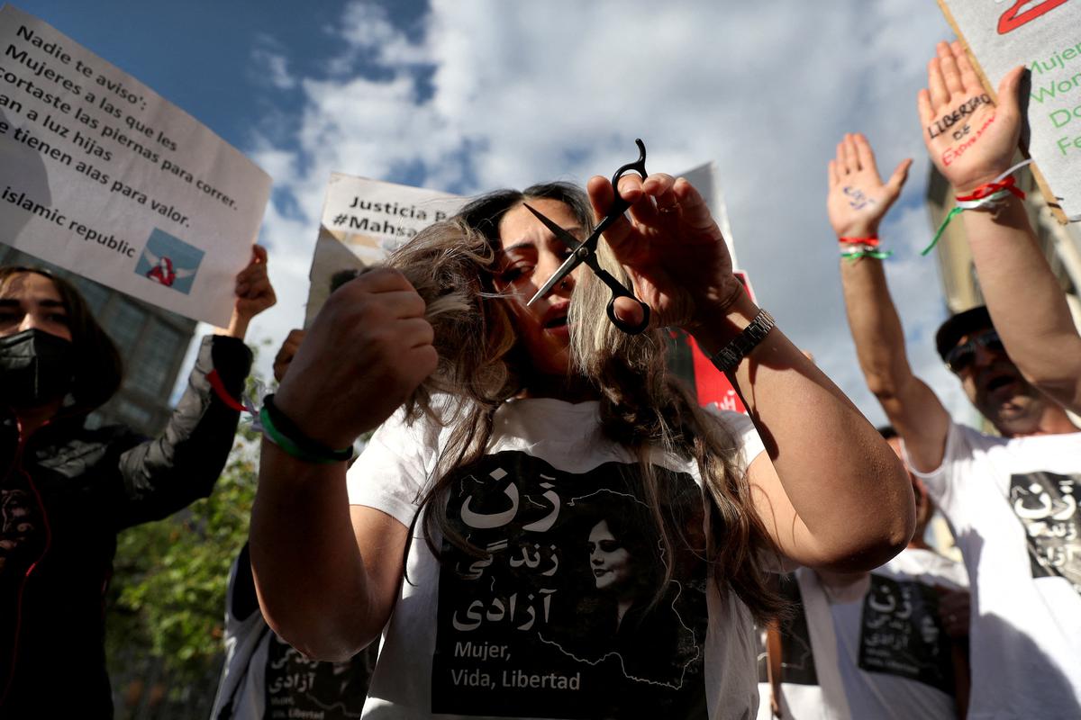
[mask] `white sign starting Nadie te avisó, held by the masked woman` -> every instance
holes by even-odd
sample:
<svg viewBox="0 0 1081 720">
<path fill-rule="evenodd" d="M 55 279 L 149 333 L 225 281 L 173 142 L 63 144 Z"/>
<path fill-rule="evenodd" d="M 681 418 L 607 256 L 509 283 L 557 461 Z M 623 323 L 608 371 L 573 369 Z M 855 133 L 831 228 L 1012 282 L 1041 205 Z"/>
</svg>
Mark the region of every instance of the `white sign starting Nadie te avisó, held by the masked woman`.
<svg viewBox="0 0 1081 720">
<path fill-rule="evenodd" d="M 270 178 L 42 21 L 0 9 L 0 241 L 224 326 Z"/>
</svg>

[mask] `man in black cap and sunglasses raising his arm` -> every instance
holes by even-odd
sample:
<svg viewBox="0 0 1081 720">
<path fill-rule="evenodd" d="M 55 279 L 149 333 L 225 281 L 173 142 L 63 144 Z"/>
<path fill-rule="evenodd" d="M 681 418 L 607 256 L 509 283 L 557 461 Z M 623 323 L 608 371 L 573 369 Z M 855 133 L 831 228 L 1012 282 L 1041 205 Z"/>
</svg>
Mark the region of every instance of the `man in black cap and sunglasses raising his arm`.
<svg viewBox="0 0 1081 720">
<path fill-rule="evenodd" d="M 937 103 L 947 53 L 956 63 L 950 46 L 940 45 L 940 57 L 929 66 L 937 108 L 929 117 L 949 112 Z M 965 146 L 962 160 L 982 157 L 985 140 L 991 141 Z M 969 572 L 970 717 L 1081 717 L 1081 433 L 1064 407 L 1018 369 L 1007 353 L 1011 344 L 1003 343 L 1006 327 L 996 327 L 986 308 L 947 320 L 935 344 L 998 435 L 953 422 L 934 391 L 913 375 L 882 254 L 871 242 L 877 243 L 909 163 L 902 162 L 883 182 L 866 138 L 846 135 L 829 164 L 827 210 L 850 254 L 841 261 L 841 283 L 860 369 L 903 438 L 912 473 L 949 520 Z M 961 160 L 951 161 L 951 171 L 955 163 Z M 1030 308 L 1015 298 L 1014 304 L 1028 320 L 1012 320 L 1011 332 L 1024 331 L 1015 323 L 1043 322 L 1039 303 Z"/>
</svg>

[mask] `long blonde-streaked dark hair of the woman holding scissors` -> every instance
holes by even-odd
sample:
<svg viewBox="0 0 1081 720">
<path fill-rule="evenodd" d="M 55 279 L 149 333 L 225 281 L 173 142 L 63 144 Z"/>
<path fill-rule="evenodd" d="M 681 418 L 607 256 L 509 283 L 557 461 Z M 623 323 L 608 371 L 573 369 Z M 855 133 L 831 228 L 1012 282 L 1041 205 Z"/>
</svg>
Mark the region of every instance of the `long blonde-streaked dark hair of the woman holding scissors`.
<svg viewBox="0 0 1081 720">
<path fill-rule="evenodd" d="M 449 526 L 441 510 L 454 471 L 479 460 L 488 448 L 496 410 L 529 384 L 530 358 L 518 343 L 511 300 L 496 291 L 493 279 L 498 270 L 499 221 L 522 201 L 539 198 L 565 203 L 582 227 L 592 225 L 588 201 L 574 186 L 552 182 L 522 192 L 498 191 L 422 231 L 388 261 L 428 302 L 440 357 L 436 372 L 406 403 L 410 419 L 428 416 L 450 427 L 435 476 L 421 499 L 425 539 L 437 557 L 440 552 L 432 539 L 439 536 L 471 555 L 485 555 Z M 601 262 L 629 286 L 606 248 Z M 731 588 L 758 620 L 775 616 L 784 603 L 766 584 L 759 556 L 776 551 L 751 505 L 746 474 L 736 468 L 737 440 L 668 373 L 660 331 L 629 336 L 616 329 L 604 312 L 609 291 L 591 280 L 586 273 L 576 283 L 568 318 L 574 371 L 600 396 L 604 434 L 639 460 L 643 500 L 666 557 L 684 548 L 704 555 L 722 594 Z M 437 408 L 437 393 L 449 394 L 450 404 Z M 649 461 L 657 448 L 697 463 L 710 514 L 708 536 L 703 538 L 688 518 L 676 516 L 679 503 L 668 502 L 672 489 Z M 669 565 L 654 602 L 672 571 Z"/>
</svg>

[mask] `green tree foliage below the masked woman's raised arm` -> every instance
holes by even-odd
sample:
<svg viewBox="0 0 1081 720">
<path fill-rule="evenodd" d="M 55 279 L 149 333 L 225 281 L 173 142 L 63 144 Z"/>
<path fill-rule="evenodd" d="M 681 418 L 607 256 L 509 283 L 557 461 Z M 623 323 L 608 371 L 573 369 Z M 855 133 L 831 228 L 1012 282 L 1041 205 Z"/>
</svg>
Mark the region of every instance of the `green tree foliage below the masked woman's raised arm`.
<svg viewBox="0 0 1081 720">
<path fill-rule="evenodd" d="M 265 392 L 249 379 L 249 397 Z M 106 600 L 117 718 L 210 714 L 224 660 L 229 569 L 248 540 L 258 449 L 259 434 L 242 420 L 210 498 L 118 536 Z"/>
</svg>

